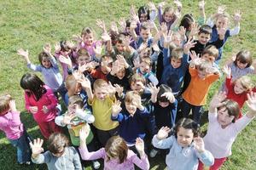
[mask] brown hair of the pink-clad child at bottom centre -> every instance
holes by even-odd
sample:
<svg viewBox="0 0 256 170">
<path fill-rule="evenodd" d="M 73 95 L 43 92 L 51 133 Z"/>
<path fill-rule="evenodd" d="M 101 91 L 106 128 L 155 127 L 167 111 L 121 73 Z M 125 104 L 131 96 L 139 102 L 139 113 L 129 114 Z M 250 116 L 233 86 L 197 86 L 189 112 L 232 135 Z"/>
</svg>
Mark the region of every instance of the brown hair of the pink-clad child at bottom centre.
<svg viewBox="0 0 256 170">
<path fill-rule="evenodd" d="M 113 136 L 108 139 L 105 151 L 107 153 L 107 161 L 109 161 L 111 157 L 118 157 L 119 163 L 123 163 L 128 155 L 128 146 L 124 139 L 119 136 Z"/>
</svg>

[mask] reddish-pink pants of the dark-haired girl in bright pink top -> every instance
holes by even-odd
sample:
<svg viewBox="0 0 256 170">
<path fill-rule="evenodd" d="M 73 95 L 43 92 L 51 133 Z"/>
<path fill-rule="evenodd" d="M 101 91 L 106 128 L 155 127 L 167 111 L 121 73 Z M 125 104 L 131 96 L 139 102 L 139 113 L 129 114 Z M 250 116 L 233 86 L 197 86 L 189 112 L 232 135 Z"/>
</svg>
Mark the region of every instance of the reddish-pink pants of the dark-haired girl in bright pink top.
<svg viewBox="0 0 256 170">
<path fill-rule="evenodd" d="M 55 124 L 55 120 L 50 122 L 38 122 L 38 126 L 45 139 L 49 139 L 51 133 L 61 133 L 61 128 Z"/>
</svg>

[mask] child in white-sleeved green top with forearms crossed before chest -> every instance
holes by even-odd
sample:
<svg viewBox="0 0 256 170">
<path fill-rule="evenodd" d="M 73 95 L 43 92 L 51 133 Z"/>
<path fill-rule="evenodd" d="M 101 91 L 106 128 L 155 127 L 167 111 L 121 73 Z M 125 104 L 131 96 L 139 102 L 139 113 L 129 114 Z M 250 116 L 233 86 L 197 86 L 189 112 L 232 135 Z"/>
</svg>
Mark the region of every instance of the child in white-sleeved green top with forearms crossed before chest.
<svg viewBox="0 0 256 170">
<path fill-rule="evenodd" d="M 84 103 L 78 95 L 71 96 L 68 103 L 67 114 L 56 116 L 55 123 L 61 127 L 67 126 L 71 142 L 77 150 L 77 147 L 79 147 L 80 144 L 79 130 L 85 126 L 90 131 L 89 123 L 93 123 L 95 118 L 91 115 L 90 111 L 83 110 Z M 93 133 L 91 131 L 86 139 L 86 144 L 90 151 L 96 149 L 93 141 Z M 98 161 L 93 161 L 93 167 L 95 169 L 100 168 L 100 163 Z"/>
</svg>

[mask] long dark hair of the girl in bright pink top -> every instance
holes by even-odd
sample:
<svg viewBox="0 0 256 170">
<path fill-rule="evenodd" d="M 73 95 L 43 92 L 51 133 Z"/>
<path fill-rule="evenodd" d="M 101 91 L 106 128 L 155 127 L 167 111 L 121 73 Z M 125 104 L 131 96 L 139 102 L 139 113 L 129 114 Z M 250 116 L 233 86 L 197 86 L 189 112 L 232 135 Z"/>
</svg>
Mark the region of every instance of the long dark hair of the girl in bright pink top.
<svg viewBox="0 0 256 170">
<path fill-rule="evenodd" d="M 44 82 L 37 75 L 31 73 L 26 73 L 21 77 L 20 87 L 24 90 L 30 90 L 37 101 L 47 92 L 44 88 Z M 27 95 L 30 96 L 31 94 L 27 93 Z"/>
</svg>

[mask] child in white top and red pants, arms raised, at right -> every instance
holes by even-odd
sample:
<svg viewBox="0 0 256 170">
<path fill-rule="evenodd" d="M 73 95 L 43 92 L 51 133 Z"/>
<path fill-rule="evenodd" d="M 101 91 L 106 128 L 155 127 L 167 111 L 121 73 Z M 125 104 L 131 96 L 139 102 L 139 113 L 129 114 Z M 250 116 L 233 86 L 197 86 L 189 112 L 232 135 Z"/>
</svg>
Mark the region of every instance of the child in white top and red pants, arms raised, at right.
<svg viewBox="0 0 256 170">
<path fill-rule="evenodd" d="M 248 111 L 245 116 L 236 120 L 239 114 L 239 105 L 236 102 L 225 99 L 224 93 L 216 94 L 209 105 L 209 125 L 207 135 L 204 137 L 206 149 L 214 157 L 214 164 L 210 170 L 222 167 L 227 157 L 231 155 L 232 144 L 238 133 L 244 129 L 256 115 L 256 94 L 247 94 Z M 203 169 L 202 164 L 198 168 Z"/>
</svg>

